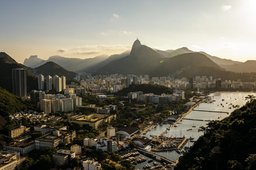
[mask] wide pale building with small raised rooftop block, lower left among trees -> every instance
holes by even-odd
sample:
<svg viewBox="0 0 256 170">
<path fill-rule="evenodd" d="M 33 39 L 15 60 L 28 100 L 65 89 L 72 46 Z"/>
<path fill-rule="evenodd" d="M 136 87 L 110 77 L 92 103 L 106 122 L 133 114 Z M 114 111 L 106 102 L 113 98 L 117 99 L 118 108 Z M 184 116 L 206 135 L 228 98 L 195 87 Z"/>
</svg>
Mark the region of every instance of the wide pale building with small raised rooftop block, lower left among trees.
<svg viewBox="0 0 256 170">
<path fill-rule="evenodd" d="M 60 143 L 69 144 L 76 137 L 76 131 L 70 130 L 54 130 L 51 133 L 43 135 L 35 139 L 35 148 L 46 148 L 46 147 L 56 147 Z"/>
</svg>

